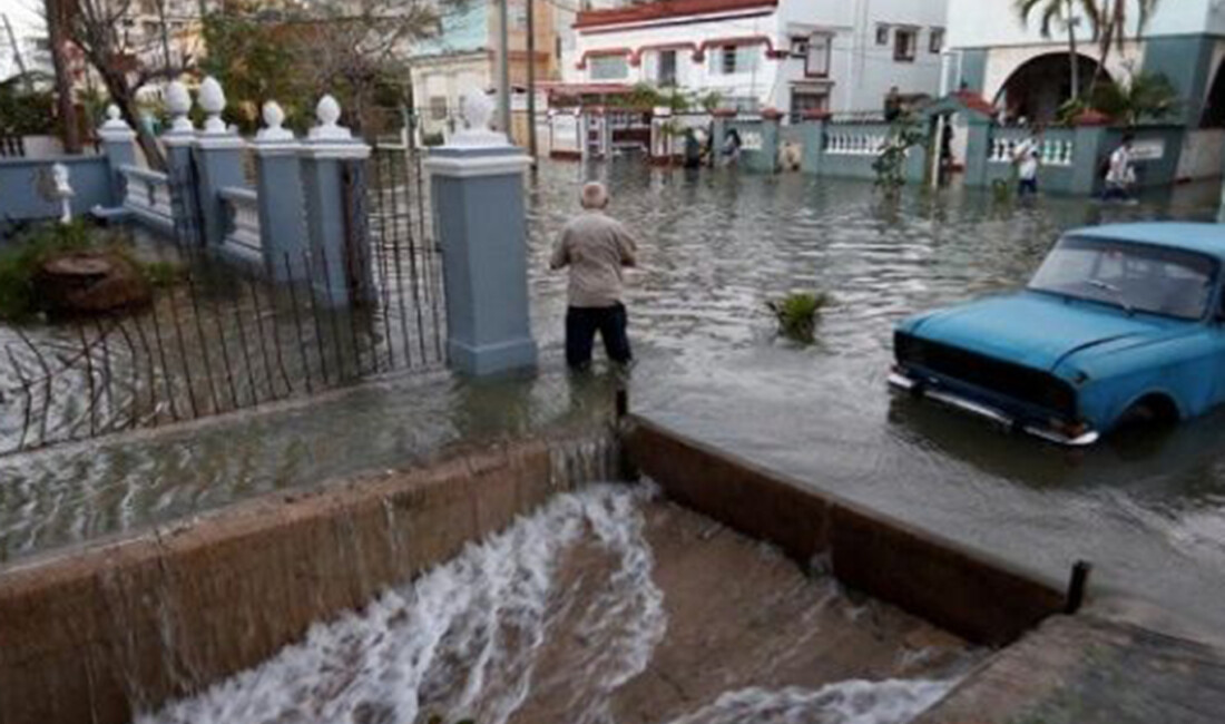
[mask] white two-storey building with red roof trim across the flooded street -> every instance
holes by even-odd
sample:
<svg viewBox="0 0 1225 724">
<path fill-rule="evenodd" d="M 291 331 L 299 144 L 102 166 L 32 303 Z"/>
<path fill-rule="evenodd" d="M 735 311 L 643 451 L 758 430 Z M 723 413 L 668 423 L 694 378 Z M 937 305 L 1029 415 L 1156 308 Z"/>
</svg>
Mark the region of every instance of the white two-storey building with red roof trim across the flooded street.
<svg viewBox="0 0 1225 724">
<path fill-rule="evenodd" d="M 880 111 L 938 92 L 944 0 L 669 0 L 579 12 L 567 83 L 715 92 L 728 107 Z"/>
</svg>

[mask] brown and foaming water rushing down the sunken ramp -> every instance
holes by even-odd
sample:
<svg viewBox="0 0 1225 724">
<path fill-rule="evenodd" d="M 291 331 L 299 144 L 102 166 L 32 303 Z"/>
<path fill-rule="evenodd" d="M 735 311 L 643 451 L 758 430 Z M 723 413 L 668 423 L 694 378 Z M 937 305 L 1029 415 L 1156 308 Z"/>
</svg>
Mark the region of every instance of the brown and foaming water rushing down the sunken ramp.
<svg viewBox="0 0 1225 724">
<path fill-rule="evenodd" d="M 604 484 L 138 724 L 900 724 L 982 652 Z"/>
</svg>

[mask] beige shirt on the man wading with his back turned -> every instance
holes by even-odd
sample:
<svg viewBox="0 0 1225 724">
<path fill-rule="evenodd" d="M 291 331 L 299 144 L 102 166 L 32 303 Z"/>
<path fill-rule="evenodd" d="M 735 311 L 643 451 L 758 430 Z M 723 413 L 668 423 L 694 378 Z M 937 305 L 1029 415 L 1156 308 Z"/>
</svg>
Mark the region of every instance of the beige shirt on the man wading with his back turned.
<svg viewBox="0 0 1225 724">
<path fill-rule="evenodd" d="M 637 252 L 637 241 L 620 222 L 589 211 L 561 230 L 549 266 L 570 267 L 570 306 L 612 306 L 621 301 L 621 268 L 632 267 Z"/>
</svg>

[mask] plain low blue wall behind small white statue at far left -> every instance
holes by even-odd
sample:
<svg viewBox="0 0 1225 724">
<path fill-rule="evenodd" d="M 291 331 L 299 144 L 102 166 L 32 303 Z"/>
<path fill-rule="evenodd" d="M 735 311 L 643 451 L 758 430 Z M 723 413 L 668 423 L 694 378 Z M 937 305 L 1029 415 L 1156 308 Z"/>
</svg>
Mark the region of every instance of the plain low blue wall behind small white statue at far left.
<svg viewBox="0 0 1225 724">
<path fill-rule="evenodd" d="M 50 176 L 51 164 L 56 162 L 69 168 L 69 183 L 76 191 L 72 198 L 74 214 L 87 213 L 97 205 L 118 205 L 119 200 L 111 195 L 110 169 L 105 156 L 4 158 L 0 159 L 0 218 L 58 218 L 59 203 L 48 201 L 39 191 L 39 176 Z"/>
</svg>

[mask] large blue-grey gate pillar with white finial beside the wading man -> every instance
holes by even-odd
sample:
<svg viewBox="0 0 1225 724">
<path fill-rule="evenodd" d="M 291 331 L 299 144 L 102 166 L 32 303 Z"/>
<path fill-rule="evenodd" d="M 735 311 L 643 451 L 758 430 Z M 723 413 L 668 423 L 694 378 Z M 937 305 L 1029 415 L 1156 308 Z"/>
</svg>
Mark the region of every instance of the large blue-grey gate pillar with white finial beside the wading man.
<svg viewBox="0 0 1225 724">
<path fill-rule="evenodd" d="M 464 98 L 470 127 L 426 160 L 442 244 L 447 354 L 483 376 L 532 368 L 537 343 L 528 316 L 523 172 L 530 158 L 489 131 L 483 93 Z"/>
</svg>

